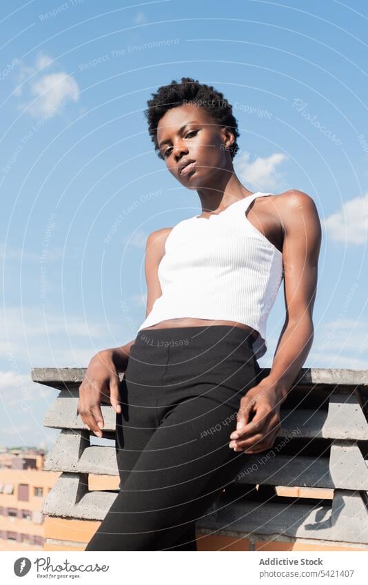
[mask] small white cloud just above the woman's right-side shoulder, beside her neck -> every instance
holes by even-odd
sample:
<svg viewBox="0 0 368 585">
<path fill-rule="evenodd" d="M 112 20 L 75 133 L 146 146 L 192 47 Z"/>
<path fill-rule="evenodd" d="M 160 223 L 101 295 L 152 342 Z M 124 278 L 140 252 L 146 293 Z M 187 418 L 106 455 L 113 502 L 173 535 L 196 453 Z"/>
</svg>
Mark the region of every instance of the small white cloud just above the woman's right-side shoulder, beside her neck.
<svg viewBox="0 0 368 585">
<path fill-rule="evenodd" d="M 267 157 L 258 156 L 252 162 L 249 158 L 250 153 L 244 152 L 234 158 L 234 167 L 236 167 L 236 172 L 243 175 L 246 181 L 252 183 L 256 189 L 275 189 L 285 183 L 284 175 L 276 171 L 276 167 L 287 161 L 286 154 L 275 152 Z"/>
</svg>

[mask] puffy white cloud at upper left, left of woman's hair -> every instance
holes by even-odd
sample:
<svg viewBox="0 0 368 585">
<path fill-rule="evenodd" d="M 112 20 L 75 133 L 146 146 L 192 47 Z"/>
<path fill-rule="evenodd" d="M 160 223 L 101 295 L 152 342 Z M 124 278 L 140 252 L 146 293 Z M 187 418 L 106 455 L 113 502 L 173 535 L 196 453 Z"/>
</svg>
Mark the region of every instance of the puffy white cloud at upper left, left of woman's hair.
<svg viewBox="0 0 368 585">
<path fill-rule="evenodd" d="M 20 62 L 19 85 L 14 93 L 18 96 L 26 94 L 21 110 L 32 116 L 52 117 L 59 114 L 69 101 L 79 99 L 79 87 L 74 77 L 65 71 L 44 74 L 43 70 L 50 66 L 51 57 L 43 53 L 38 55 L 32 66 Z"/>
</svg>

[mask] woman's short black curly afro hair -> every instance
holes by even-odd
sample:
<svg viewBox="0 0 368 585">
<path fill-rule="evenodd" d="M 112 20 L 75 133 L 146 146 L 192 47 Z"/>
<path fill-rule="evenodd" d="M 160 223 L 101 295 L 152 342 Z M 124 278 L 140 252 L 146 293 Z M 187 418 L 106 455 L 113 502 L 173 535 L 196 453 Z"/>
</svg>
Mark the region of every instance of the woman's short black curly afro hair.
<svg viewBox="0 0 368 585">
<path fill-rule="evenodd" d="M 159 121 L 167 110 L 186 103 L 202 107 L 212 117 L 216 125 L 226 126 L 232 131 L 234 143 L 229 146 L 229 152 L 234 158 L 239 150 L 236 141 L 236 138 L 240 136 L 238 123 L 232 114 L 232 104 L 224 99 L 223 94 L 216 91 L 212 85 L 199 83 L 192 77 L 182 77 L 180 83 L 173 80 L 169 85 L 161 85 L 161 88 L 151 95 L 152 99 L 147 101 L 148 109 L 145 110 L 144 114 L 148 121 L 148 132 L 154 143 L 154 150 L 159 158 L 164 159 L 157 142 Z"/>
</svg>

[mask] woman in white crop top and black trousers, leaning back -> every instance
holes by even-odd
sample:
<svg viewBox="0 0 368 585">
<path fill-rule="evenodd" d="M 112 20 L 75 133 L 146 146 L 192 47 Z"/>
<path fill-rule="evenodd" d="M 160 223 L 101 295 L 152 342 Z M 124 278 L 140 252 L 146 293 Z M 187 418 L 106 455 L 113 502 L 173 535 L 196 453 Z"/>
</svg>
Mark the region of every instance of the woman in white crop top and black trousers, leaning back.
<svg viewBox="0 0 368 585">
<path fill-rule="evenodd" d="M 172 81 L 148 105 L 155 150 L 196 190 L 202 213 L 147 238 L 145 321 L 135 340 L 92 358 L 79 389 L 78 412 L 98 436 L 110 398 L 121 479 L 86 551 L 196 551 L 195 522 L 246 465 L 244 453 L 274 444 L 314 335 L 314 201 L 242 185 L 232 107 L 211 86 Z M 260 380 L 282 280 L 285 325 Z"/>
</svg>

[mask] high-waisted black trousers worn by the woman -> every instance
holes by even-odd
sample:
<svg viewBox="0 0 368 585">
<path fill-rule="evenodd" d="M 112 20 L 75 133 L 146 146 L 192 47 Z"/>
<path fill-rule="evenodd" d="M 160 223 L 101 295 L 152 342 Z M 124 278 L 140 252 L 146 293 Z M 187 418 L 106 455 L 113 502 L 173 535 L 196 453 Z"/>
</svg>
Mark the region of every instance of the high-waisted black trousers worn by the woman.
<svg viewBox="0 0 368 585">
<path fill-rule="evenodd" d="M 119 493 L 86 551 L 196 551 L 196 521 L 247 464 L 229 448 L 260 367 L 241 327 L 141 330 L 116 415 Z"/>
</svg>

